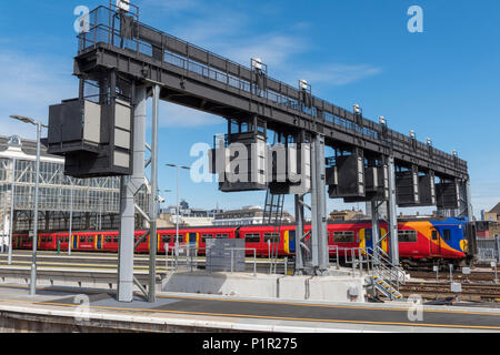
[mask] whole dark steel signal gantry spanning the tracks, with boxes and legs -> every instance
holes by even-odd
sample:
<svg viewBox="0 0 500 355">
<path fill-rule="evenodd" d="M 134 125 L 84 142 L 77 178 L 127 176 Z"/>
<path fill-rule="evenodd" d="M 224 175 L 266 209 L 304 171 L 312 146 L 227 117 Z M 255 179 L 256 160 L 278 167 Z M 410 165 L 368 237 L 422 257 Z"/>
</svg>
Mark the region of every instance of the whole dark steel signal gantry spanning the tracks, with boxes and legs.
<svg viewBox="0 0 500 355">
<path fill-rule="evenodd" d="M 126 176 L 122 178 L 122 221 L 127 220 L 126 215 L 133 217 L 133 191 L 144 178 L 144 103 L 150 95 L 154 108 L 158 100 L 164 100 L 228 120 L 228 134 L 218 140 L 211 152 L 212 158 L 218 152 L 224 156 L 222 164 L 214 162 L 211 166 L 219 174 L 221 191 L 270 189 L 276 194 L 296 195 L 299 272 L 323 274 L 328 268 L 327 186 L 332 199 L 371 201 L 376 244 L 382 239 L 377 235 L 377 210 L 388 203 L 394 264 L 398 263 L 397 205 L 438 205 L 470 216 L 467 162 L 457 154 L 434 149 L 430 140 L 421 143 L 414 135 L 398 133 L 388 128 L 382 116 L 378 122 L 368 120 L 358 105 L 351 112 L 314 97 L 306 80 L 300 80 L 297 87 L 280 82 L 268 75 L 268 68 L 260 59 L 251 59 L 249 67 L 241 65 L 156 30 L 140 21 L 137 7 L 98 7 L 82 21 L 87 21 L 88 31 L 79 36 L 74 59 L 80 95 L 51 111 L 49 150 L 67 156 L 67 174 Z M 76 109 L 84 112 L 84 120 L 81 114 L 74 114 Z M 62 119 L 62 112 L 73 114 Z M 101 131 L 92 132 L 88 124 L 78 131 L 83 132 L 82 136 L 68 138 L 71 129 L 64 128 L 64 122 L 71 116 L 83 124 L 88 123 L 87 119 L 89 122 L 96 119 Z M 273 180 L 276 174 L 271 171 L 276 170 L 276 162 L 267 153 L 268 130 L 284 136 L 283 144 L 299 152 L 287 151 L 284 155 L 287 164 L 302 173 L 299 183 L 292 182 L 288 173 L 283 181 Z M 231 144 L 246 146 L 251 153 L 242 166 L 244 173 L 254 178 L 252 181 L 224 179 L 229 163 L 238 160 L 241 163 Z M 326 156 L 326 146 L 334 150 L 333 156 Z M 126 185 L 130 183 L 133 191 L 127 192 Z M 311 206 L 303 202 L 307 193 L 311 193 Z M 303 235 L 304 207 L 311 210 L 310 235 Z M 130 264 L 133 233 L 123 227 L 133 224 L 123 223 L 120 263 Z M 130 265 L 123 268 L 128 275 L 120 275 L 121 285 L 131 284 L 132 270 Z M 123 301 L 131 300 L 131 288 L 127 292 Z"/>
</svg>

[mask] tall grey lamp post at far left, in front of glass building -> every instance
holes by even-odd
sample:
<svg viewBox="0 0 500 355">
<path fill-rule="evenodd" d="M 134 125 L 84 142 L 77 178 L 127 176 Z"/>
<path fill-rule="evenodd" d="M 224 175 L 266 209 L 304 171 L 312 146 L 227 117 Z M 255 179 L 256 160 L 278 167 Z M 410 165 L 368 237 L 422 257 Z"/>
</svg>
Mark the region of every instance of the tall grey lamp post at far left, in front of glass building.
<svg viewBox="0 0 500 355">
<path fill-rule="evenodd" d="M 34 169 L 34 221 L 33 221 L 33 240 L 32 240 L 33 254 L 31 257 L 31 280 L 30 280 L 30 295 L 34 296 L 37 294 L 38 190 L 39 190 L 40 149 L 41 149 L 40 139 L 42 126 L 48 128 L 48 125 L 22 115 L 11 115 L 10 118 L 37 126 L 37 164 Z M 12 247 L 12 245 L 10 245 L 10 247 Z"/>
</svg>

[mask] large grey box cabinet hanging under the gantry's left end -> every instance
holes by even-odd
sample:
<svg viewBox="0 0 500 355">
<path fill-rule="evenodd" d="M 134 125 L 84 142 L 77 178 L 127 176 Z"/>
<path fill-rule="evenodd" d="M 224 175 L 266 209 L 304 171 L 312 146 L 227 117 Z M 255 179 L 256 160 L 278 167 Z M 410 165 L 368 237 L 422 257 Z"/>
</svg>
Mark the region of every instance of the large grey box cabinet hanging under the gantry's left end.
<svg viewBox="0 0 500 355">
<path fill-rule="evenodd" d="M 123 100 L 99 104 L 73 99 L 49 109 L 49 153 L 66 158 L 73 178 L 130 175 L 131 106 Z"/>
</svg>

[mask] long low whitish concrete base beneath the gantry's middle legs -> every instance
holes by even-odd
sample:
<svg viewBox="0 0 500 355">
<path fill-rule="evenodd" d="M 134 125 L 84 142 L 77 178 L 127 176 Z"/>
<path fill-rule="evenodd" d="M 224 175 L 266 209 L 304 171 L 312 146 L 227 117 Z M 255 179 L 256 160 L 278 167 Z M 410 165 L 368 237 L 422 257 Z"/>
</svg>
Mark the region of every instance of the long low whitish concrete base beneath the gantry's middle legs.
<svg viewBox="0 0 500 355">
<path fill-rule="evenodd" d="M 364 277 L 347 276 L 342 271 L 331 276 L 284 276 L 248 273 L 208 273 L 204 271 L 168 273 L 162 292 L 214 294 L 268 300 L 304 300 L 363 303 Z"/>
</svg>

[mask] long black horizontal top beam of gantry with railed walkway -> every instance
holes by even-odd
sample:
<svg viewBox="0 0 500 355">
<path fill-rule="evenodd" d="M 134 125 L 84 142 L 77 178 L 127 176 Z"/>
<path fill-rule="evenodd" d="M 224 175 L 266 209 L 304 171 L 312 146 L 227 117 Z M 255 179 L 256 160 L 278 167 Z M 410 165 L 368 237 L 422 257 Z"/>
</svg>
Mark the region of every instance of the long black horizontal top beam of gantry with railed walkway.
<svg viewBox="0 0 500 355">
<path fill-rule="evenodd" d="M 93 10 L 90 19 L 98 19 L 99 11 L 109 9 Z M 80 78 L 117 70 L 136 80 L 159 82 L 162 85 L 160 98 L 166 101 L 227 119 L 248 120 L 258 115 L 271 130 L 322 133 L 331 146 L 362 149 L 367 156 L 393 154 L 398 165 L 417 165 L 420 171 L 431 170 L 444 179 L 469 179 L 466 161 L 312 94 L 304 98 L 299 88 L 269 77 L 263 85 L 250 68 L 138 21 L 133 26 L 134 39 L 126 40 L 123 48 L 119 48 L 108 39 L 119 38 L 120 30 L 112 29 L 113 24 L 104 20 L 94 22 L 89 32 L 79 36 L 74 74 Z M 158 55 L 158 49 L 163 50 L 163 55 Z"/>
</svg>

